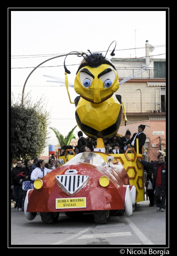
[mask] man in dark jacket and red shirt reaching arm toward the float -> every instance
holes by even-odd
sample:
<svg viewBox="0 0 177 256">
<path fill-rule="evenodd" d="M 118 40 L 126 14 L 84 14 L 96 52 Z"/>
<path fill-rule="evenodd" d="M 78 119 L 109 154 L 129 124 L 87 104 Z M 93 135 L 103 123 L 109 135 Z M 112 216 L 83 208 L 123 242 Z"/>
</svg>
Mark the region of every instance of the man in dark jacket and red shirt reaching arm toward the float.
<svg viewBox="0 0 177 256">
<path fill-rule="evenodd" d="M 153 169 L 152 173 L 152 186 L 155 188 L 155 204 L 157 211 L 165 211 L 166 200 L 166 163 L 164 163 L 163 155 L 158 155 L 158 162 L 146 162 L 141 158 L 138 159 L 142 165 L 147 168 Z"/>
</svg>

